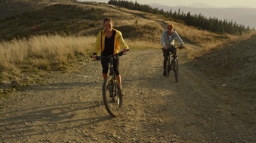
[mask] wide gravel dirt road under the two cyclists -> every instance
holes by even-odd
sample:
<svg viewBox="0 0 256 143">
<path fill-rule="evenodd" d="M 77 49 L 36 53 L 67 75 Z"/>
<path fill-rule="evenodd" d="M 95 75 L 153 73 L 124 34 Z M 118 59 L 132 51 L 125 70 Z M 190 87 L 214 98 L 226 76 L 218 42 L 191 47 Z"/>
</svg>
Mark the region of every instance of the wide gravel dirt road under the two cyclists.
<svg viewBox="0 0 256 143">
<path fill-rule="evenodd" d="M 162 76 L 161 49 L 121 57 L 125 106 L 107 113 L 99 61 L 44 77 L 0 109 L 1 142 L 255 142 L 255 103 L 206 77 L 178 51 L 179 82 Z"/>
</svg>

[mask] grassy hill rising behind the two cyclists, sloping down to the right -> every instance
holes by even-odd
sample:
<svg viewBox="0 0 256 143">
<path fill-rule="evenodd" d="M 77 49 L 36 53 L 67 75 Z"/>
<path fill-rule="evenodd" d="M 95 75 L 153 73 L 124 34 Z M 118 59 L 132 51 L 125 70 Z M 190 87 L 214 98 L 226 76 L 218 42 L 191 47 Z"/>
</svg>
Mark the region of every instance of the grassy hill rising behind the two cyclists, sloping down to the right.
<svg viewBox="0 0 256 143">
<path fill-rule="evenodd" d="M 102 20 L 107 16 L 114 18 L 115 28 L 122 31 L 124 38 L 159 41 L 159 36 L 164 30 L 159 23 L 153 21 L 163 20 L 165 17 L 161 15 L 131 11 L 113 5 L 70 1 L 42 1 L 38 4 L 48 6 L 43 8 L 31 6 L 31 9 L 27 8 L 27 11 L 23 13 L 0 19 L 0 29 L 2 29 L 0 39 L 10 40 L 49 33 L 96 35 L 103 28 Z M 227 36 L 197 30 L 177 23 L 177 21 L 166 19 L 165 23 L 174 23 L 182 38 L 199 45 L 203 42 L 209 43 L 228 38 Z M 198 33 L 197 36 L 194 36 L 195 33 Z"/>
</svg>

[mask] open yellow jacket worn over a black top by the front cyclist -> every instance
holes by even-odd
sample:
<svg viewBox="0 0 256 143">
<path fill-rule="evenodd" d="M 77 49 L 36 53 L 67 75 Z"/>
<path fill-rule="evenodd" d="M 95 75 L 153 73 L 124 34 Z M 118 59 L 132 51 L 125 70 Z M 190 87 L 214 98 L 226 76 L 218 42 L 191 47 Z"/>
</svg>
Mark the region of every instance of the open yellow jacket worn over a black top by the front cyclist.
<svg viewBox="0 0 256 143">
<path fill-rule="evenodd" d="M 116 29 L 112 29 L 112 30 L 116 31 L 115 43 L 114 43 L 114 53 L 113 54 L 116 54 L 116 53 L 119 52 L 119 49 L 120 49 L 119 46 L 121 46 L 122 48 L 129 49 L 129 47 L 126 45 L 126 43 L 125 43 L 125 41 L 122 37 L 122 33 L 119 30 L 116 30 Z M 100 51 L 100 49 L 101 49 L 101 53 L 104 51 L 105 38 L 106 38 L 106 30 L 101 30 L 98 33 L 93 53 L 97 53 L 98 51 Z"/>
</svg>

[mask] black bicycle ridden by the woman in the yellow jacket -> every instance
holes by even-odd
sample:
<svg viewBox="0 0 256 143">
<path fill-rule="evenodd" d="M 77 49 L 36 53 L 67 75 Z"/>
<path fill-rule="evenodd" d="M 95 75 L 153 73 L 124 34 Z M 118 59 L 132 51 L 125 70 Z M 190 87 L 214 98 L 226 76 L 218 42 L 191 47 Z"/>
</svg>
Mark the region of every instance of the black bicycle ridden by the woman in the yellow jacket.
<svg viewBox="0 0 256 143">
<path fill-rule="evenodd" d="M 129 51 L 129 49 L 127 49 Z M 106 58 L 109 60 L 109 76 L 106 77 L 106 79 L 103 82 L 103 101 L 106 107 L 107 112 L 116 117 L 119 116 L 122 110 L 123 105 L 123 96 L 122 91 L 119 86 L 119 83 L 116 81 L 116 73 L 113 69 L 113 58 L 116 58 L 117 56 L 124 55 L 124 52 L 119 52 L 115 55 L 109 55 L 109 56 L 97 56 L 96 60 L 101 60 L 101 58 Z"/>
</svg>

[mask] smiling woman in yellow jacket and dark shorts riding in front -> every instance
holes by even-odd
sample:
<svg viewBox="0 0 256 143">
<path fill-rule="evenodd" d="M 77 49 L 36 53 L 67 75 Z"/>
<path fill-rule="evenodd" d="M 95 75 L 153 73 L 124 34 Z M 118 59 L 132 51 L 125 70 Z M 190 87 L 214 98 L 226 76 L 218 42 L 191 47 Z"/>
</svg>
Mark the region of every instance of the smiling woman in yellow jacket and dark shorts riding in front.
<svg viewBox="0 0 256 143">
<path fill-rule="evenodd" d="M 103 20 L 104 29 L 98 33 L 95 48 L 93 51 L 92 58 L 96 58 L 97 52 L 101 51 L 101 55 L 108 56 L 117 54 L 120 51 L 120 46 L 123 48 L 123 52 L 127 52 L 129 47 L 126 45 L 124 39 L 122 38 L 122 33 L 119 30 L 113 29 L 112 18 L 104 18 Z M 109 71 L 109 61 L 101 58 L 101 65 L 103 67 L 103 79 L 105 80 L 108 76 Z M 113 69 L 116 73 L 116 80 L 121 86 L 121 74 L 119 73 L 119 57 L 113 60 Z"/>
</svg>

